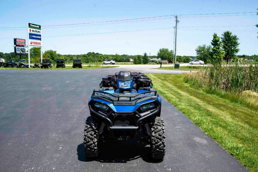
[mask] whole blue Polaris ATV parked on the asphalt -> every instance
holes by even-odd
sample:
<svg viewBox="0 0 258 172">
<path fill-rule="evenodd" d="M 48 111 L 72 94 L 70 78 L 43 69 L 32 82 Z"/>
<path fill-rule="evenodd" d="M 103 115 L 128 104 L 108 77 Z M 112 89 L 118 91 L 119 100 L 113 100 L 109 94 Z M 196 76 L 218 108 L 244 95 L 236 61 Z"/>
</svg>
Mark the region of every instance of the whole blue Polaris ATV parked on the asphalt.
<svg viewBox="0 0 258 172">
<path fill-rule="evenodd" d="M 121 71 L 102 78 L 89 98 L 90 115 L 84 129 L 84 153 L 97 157 L 97 143 L 142 140 L 151 146 L 151 157 L 165 156 L 165 125 L 161 98 L 151 79 L 138 72 Z"/>
</svg>

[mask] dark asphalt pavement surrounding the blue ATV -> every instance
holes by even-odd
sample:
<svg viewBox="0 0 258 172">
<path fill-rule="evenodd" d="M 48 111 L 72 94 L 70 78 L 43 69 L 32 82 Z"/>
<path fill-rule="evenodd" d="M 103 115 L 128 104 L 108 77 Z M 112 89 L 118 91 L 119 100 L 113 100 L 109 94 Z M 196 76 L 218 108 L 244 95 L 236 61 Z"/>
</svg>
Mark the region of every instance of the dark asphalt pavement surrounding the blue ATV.
<svg viewBox="0 0 258 172">
<path fill-rule="evenodd" d="M 247 171 L 163 97 L 163 161 L 137 142 L 99 144 L 85 159 L 88 98 L 116 70 L 1 70 L 0 171 Z"/>
</svg>

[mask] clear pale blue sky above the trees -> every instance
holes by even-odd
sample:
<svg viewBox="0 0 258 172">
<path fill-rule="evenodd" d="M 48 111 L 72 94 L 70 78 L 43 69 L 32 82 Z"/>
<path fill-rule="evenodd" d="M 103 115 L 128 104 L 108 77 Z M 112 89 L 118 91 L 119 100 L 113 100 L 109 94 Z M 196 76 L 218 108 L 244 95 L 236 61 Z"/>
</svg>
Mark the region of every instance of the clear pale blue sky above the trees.
<svg viewBox="0 0 258 172">
<path fill-rule="evenodd" d="M 75 35 L 140 29 L 167 28 L 175 26 L 175 18 L 92 25 L 80 27 L 48 28 L 47 25 L 90 23 L 178 14 L 177 55 L 195 56 L 195 48 L 210 44 L 214 32 L 221 35 L 230 30 L 239 37 L 238 54 L 258 54 L 257 27 L 204 27 L 239 26 L 258 24 L 255 13 L 227 17 L 187 17 L 191 14 L 256 12 L 257 0 L 215 1 L 3 1 L 0 0 L 0 27 L 26 27 L 27 23 L 42 25 L 43 51 L 56 50 L 60 54 L 143 54 L 156 55 L 160 48 L 173 50 L 174 29 L 106 33 L 81 36 L 44 37 Z M 181 15 L 180 14 L 189 14 Z M 230 14 L 228 14 L 230 15 Z M 237 15 L 237 14 L 232 14 Z M 197 15 L 198 16 L 198 15 Z M 200 15 L 199 15 L 200 16 Z M 211 15 L 209 15 L 211 16 Z M 173 16 L 171 16 L 173 17 Z M 162 17 L 161 17 L 162 18 Z M 163 17 L 166 18 L 166 17 Z M 73 25 L 70 25 L 73 26 Z M 57 26 L 56 26 L 57 27 Z M 180 28 L 183 27 L 183 28 Z M 27 37 L 27 30 L 3 30 L 0 28 L 0 52 L 13 52 L 13 38 Z M 15 28 L 24 29 L 24 28 Z M 240 31 L 241 30 L 241 31 Z M 28 40 L 26 38 L 26 44 Z"/>
</svg>

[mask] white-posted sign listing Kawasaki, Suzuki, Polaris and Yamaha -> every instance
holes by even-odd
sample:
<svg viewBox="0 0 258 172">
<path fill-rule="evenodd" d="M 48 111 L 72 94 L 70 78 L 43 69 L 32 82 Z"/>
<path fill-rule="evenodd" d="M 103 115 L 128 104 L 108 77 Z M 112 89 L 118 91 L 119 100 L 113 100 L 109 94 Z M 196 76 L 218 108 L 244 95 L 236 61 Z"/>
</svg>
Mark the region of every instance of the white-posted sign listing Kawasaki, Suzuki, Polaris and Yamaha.
<svg viewBox="0 0 258 172">
<path fill-rule="evenodd" d="M 28 58 L 30 64 L 30 46 L 40 47 L 40 57 L 42 63 L 42 42 L 41 42 L 41 25 L 28 23 Z M 30 67 L 30 65 L 29 65 Z"/>
</svg>

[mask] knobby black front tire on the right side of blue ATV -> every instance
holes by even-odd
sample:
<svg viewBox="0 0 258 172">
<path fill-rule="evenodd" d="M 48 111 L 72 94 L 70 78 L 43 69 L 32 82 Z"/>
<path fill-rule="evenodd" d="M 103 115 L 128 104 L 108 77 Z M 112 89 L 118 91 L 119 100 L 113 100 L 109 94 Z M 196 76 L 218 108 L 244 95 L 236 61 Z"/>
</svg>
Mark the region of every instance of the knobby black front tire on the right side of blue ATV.
<svg viewBox="0 0 258 172">
<path fill-rule="evenodd" d="M 163 159 L 166 153 L 164 121 L 161 117 L 155 117 L 151 126 L 151 157 Z"/>
</svg>

